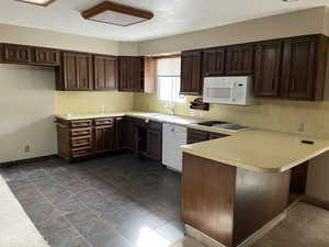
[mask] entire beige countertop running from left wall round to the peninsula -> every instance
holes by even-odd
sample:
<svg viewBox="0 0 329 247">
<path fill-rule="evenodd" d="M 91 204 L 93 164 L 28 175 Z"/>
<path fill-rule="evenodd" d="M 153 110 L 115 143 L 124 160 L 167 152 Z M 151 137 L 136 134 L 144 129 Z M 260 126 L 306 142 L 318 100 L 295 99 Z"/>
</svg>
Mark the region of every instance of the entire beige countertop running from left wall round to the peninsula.
<svg viewBox="0 0 329 247">
<path fill-rule="evenodd" d="M 195 156 L 258 172 L 283 172 L 329 150 L 329 139 L 265 130 L 229 132 L 195 124 L 206 120 L 162 113 L 133 111 L 103 114 L 56 115 L 56 117 L 64 120 L 100 119 L 110 116 L 133 116 L 207 132 L 228 134 L 229 136 L 224 138 L 184 145 L 182 146 L 182 150 Z M 302 139 L 310 139 L 314 141 L 315 144 L 302 144 Z"/>
</svg>

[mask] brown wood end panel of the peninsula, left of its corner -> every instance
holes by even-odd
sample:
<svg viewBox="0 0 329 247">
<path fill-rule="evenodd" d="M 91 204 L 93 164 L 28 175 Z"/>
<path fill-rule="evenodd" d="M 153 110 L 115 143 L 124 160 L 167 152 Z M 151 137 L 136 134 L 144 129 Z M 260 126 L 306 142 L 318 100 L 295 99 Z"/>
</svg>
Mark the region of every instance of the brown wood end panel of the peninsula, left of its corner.
<svg viewBox="0 0 329 247">
<path fill-rule="evenodd" d="M 235 167 L 183 154 L 183 222 L 231 246 L 235 184 Z"/>
</svg>

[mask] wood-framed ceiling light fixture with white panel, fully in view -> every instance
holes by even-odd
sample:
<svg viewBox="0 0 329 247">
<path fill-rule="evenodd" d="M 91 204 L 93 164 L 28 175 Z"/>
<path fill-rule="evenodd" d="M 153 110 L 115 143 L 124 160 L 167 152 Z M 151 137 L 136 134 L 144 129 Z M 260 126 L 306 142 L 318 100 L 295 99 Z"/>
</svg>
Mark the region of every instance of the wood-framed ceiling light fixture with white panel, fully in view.
<svg viewBox="0 0 329 247">
<path fill-rule="evenodd" d="M 109 1 L 102 2 L 89 10 L 83 11 L 81 15 L 90 21 L 120 26 L 133 25 L 150 20 L 154 16 L 154 14 L 149 11 Z"/>
</svg>

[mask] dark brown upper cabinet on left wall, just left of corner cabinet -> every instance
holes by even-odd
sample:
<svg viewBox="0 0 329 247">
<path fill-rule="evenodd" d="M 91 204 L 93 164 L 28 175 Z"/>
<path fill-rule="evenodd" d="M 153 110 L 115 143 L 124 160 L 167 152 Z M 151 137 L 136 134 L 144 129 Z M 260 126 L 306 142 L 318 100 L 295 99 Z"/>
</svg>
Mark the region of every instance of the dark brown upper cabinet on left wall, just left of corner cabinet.
<svg viewBox="0 0 329 247">
<path fill-rule="evenodd" d="M 116 90 L 116 68 L 115 57 L 95 55 L 93 57 L 94 90 Z"/>
</svg>

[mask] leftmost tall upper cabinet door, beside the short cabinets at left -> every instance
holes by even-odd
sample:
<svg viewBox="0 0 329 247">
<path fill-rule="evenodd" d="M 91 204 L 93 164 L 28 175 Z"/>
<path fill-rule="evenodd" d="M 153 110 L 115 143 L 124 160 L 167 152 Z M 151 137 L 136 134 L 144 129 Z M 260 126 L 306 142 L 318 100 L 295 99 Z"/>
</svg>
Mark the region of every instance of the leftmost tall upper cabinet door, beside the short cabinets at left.
<svg viewBox="0 0 329 247">
<path fill-rule="evenodd" d="M 63 54 L 63 68 L 64 70 L 64 89 L 77 90 L 79 88 L 77 79 L 77 59 L 72 53 Z"/>
</svg>

